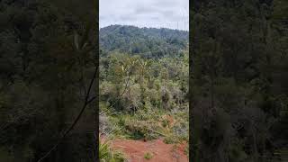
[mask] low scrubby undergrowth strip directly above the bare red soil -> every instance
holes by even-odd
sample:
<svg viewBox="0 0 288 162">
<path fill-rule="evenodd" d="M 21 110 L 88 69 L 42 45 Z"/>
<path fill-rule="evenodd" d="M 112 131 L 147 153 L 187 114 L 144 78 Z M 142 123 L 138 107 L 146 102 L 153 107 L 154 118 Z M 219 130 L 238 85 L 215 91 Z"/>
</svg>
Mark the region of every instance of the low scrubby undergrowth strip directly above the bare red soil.
<svg viewBox="0 0 288 162">
<path fill-rule="evenodd" d="M 164 139 L 167 144 L 188 142 L 187 110 L 153 110 L 109 114 L 109 135 L 125 139 Z"/>
</svg>

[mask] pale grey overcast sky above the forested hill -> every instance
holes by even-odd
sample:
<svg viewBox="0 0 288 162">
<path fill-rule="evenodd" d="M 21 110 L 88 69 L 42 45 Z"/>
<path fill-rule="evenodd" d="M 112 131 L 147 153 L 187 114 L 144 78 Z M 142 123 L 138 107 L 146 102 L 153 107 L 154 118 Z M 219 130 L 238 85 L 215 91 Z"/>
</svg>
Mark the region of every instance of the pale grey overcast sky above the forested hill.
<svg viewBox="0 0 288 162">
<path fill-rule="evenodd" d="M 100 28 L 111 24 L 189 30 L 189 0 L 100 0 Z"/>
</svg>

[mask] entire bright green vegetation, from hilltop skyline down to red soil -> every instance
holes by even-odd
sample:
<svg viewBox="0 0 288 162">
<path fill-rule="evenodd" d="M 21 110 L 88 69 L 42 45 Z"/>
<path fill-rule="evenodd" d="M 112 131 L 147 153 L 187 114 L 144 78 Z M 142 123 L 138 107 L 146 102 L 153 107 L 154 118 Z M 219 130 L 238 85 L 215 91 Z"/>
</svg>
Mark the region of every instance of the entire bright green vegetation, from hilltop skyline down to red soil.
<svg viewBox="0 0 288 162">
<path fill-rule="evenodd" d="M 102 135 L 188 142 L 188 32 L 115 25 L 100 35 Z"/>
</svg>

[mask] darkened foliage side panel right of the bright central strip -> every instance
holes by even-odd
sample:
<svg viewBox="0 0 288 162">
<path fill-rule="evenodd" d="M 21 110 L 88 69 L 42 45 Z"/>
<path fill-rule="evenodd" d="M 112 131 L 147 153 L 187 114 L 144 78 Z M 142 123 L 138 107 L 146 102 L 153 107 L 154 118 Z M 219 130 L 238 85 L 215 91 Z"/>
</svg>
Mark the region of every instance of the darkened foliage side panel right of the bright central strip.
<svg viewBox="0 0 288 162">
<path fill-rule="evenodd" d="M 193 1 L 194 161 L 287 161 L 287 6 Z"/>
</svg>

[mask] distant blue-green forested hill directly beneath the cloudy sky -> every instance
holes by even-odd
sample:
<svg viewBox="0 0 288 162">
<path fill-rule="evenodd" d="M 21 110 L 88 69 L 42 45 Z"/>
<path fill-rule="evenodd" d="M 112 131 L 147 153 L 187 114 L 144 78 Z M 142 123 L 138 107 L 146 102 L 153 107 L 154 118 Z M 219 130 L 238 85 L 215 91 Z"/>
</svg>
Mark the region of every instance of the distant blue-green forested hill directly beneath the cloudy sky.
<svg viewBox="0 0 288 162">
<path fill-rule="evenodd" d="M 188 31 L 111 25 L 100 29 L 99 41 L 103 54 L 119 50 L 147 58 L 161 58 L 181 53 L 187 46 L 188 37 Z"/>
</svg>

